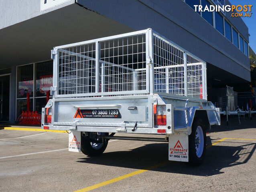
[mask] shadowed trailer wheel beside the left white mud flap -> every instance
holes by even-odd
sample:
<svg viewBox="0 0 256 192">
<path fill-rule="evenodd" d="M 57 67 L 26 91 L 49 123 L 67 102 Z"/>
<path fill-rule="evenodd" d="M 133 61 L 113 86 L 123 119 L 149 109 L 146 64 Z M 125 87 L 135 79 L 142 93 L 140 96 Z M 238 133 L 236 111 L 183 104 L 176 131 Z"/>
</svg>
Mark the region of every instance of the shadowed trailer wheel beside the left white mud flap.
<svg viewBox="0 0 256 192">
<path fill-rule="evenodd" d="M 108 133 L 97 132 L 97 135 L 108 135 Z M 89 137 L 92 133 L 89 133 Z M 87 156 L 101 155 L 107 148 L 108 141 L 104 143 L 93 143 L 88 137 L 81 135 L 81 152 Z"/>
</svg>

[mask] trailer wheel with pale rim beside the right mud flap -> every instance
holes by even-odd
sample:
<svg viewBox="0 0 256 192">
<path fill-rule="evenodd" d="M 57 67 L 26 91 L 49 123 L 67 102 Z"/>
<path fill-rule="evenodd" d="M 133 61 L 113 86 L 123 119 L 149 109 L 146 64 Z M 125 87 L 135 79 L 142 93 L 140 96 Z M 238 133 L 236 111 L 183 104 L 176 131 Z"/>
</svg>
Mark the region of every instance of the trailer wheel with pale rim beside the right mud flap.
<svg viewBox="0 0 256 192">
<path fill-rule="evenodd" d="M 195 118 L 189 135 L 189 164 L 199 166 L 203 162 L 206 149 L 205 125 L 200 118 Z"/>
</svg>

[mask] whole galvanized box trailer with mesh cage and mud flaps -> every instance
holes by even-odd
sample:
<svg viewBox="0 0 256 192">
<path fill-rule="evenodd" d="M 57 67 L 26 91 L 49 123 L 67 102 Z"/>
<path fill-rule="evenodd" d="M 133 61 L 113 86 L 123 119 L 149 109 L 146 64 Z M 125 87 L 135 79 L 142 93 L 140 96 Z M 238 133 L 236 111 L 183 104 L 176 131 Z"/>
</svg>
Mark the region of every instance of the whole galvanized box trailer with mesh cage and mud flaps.
<svg viewBox="0 0 256 192">
<path fill-rule="evenodd" d="M 203 60 L 150 28 L 51 54 L 53 98 L 42 109 L 42 128 L 72 131 L 70 151 L 99 155 L 110 139 L 166 141 L 169 160 L 201 164 L 205 132 L 220 124 L 218 108 L 207 102 Z"/>
</svg>

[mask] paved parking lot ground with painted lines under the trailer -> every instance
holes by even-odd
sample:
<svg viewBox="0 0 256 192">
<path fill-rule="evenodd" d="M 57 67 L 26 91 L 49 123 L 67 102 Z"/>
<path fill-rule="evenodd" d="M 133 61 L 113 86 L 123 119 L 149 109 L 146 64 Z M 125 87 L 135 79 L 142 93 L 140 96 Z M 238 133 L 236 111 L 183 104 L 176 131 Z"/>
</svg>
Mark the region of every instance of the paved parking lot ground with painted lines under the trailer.
<svg viewBox="0 0 256 192">
<path fill-rule="evenodd" d="M 0 130 L 0 191 L 253 192 L 256 120 L 242 123 L 213 127 L 199 167 L 169 162 L 167 143 L 110 140 L 87 157 L 68 152 L 67 133 Z"/>
</svg>

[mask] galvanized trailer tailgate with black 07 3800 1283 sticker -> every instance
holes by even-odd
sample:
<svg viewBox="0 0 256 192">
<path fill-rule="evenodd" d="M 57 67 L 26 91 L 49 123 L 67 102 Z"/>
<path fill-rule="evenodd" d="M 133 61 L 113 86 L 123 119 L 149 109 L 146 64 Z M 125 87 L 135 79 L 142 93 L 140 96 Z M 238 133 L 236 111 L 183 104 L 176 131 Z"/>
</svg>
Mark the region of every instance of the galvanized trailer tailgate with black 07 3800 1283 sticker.
<svg viewBox="0 0 256 192">
<path fill-rule="evenodd" d="M 149 95 L 55 100 L 55 125 L 111 126 L 122 123 L 152 127 L 152 103 Z"/>
</svg>

